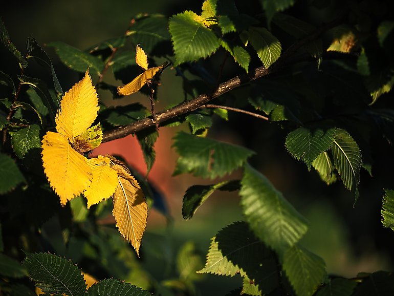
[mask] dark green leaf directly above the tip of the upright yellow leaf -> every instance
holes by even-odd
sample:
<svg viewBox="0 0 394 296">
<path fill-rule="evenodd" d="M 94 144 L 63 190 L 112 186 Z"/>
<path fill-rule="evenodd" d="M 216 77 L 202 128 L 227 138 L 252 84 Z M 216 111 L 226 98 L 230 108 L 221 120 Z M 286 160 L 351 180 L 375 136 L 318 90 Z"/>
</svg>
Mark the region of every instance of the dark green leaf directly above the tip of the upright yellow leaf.
<svg viewBox="0 0 394 296">
<path fill-rule="evenodd" d="M 88 68 L 96 74 L 100 74 L 104 69 L 104 62 L 97 56 L 85 53 L 62 41 L 53 41 L 47 46 L 54 47 L 62 63 L 68 68 L 77 72 L 85 73 Z"/>
</svg>

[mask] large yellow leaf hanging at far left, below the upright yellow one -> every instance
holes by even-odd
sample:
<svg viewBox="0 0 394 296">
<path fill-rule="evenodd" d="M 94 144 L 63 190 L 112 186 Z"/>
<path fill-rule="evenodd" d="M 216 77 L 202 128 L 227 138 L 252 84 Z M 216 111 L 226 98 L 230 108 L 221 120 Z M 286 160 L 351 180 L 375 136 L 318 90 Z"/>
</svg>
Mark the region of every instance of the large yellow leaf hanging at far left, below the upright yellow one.
<svg viewBox="0 0 394 296">
<path fill-rule="evenodd" d="M 62 205 L 91 184 L 92 172 L 87 159 L 71 147 L 66 136 L 48 132 L 42 139 L 41 155 L 44 172 Z"/>
</svg>

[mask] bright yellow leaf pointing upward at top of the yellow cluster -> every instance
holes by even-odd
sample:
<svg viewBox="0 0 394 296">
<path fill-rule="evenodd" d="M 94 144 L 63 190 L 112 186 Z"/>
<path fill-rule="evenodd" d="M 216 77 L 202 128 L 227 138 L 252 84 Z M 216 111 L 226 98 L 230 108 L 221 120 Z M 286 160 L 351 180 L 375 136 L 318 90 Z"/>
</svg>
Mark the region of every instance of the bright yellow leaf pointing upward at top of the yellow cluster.
<svg viewBox="0 0 394 296">
<path fill-rule="evenodd" d="M 97 92 L 87 70 L 82 80 L 61 99 L 56 115 L 57 132 L 69 139 L 82 134 L 92 125 L 98 110 Z"/>
</svg>

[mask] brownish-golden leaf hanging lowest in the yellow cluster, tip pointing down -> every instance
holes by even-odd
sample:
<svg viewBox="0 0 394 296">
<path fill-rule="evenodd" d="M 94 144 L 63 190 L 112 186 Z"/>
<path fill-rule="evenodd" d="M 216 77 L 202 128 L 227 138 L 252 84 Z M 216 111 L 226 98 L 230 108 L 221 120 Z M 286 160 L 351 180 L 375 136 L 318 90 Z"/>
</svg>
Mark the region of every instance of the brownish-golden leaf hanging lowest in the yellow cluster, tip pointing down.
<svg viewBox="0 0 394 296">
<path fill-rule="evenodd" d="M 144 235 L 148 217 L 148 205 L 140 185 L 130 174 L 124 164 L 113 161 L 112 168 L 118 173 L 118 187 L 114 194 L 114 210 L 116 226 L 119 232 L 132 243 L 139 256 L 142 236 Z"/>
</svg>

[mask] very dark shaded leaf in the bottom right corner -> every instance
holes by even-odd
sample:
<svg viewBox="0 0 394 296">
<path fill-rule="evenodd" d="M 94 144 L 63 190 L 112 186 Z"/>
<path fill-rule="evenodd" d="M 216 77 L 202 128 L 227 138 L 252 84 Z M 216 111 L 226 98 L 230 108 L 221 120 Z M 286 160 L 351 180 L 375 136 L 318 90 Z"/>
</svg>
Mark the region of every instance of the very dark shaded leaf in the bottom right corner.
<svg viewBox="0 0 394 296">
<path fill-rule="evenodd" d="M 393 295 L 394 273 L 388 271 L 377 271 L 359 284 L 352 296 L 369 295 Z"/>
</svg>

